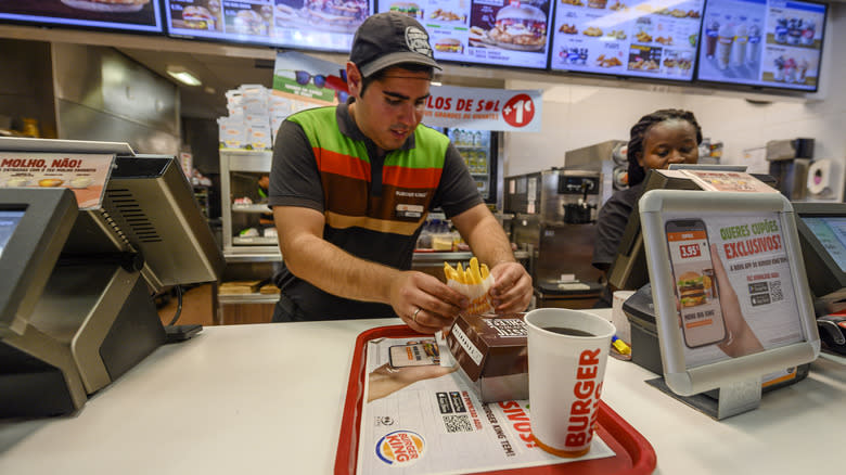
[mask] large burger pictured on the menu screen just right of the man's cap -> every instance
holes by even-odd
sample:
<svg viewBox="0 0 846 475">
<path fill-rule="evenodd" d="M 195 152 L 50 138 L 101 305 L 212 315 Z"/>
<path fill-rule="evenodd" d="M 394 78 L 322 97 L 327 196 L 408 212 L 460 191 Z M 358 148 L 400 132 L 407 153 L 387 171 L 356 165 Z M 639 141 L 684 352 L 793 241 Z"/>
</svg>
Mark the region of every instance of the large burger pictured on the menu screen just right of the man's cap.
<svg viewBox="0 0 846 475">
<path fill-rule="evenodd" d="M 533 5 L 504 7 L 497 12 L 497 22 L 488 37 L 500 46 L 539 50 L 547 44 L 547 15 Z"/>
</svg>

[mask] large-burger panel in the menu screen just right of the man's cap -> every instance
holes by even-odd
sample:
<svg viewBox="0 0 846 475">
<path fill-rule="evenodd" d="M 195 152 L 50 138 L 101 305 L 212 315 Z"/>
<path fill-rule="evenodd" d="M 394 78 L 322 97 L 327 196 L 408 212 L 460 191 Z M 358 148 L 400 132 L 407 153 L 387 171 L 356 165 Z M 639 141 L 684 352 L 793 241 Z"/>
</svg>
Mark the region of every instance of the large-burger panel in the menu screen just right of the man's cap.
<svg viewBox="0 0 846 475">
<path fill-rule="evenodd" d="M 549 11 L 549 1 L 544 0 L 473 2 L 470 42 L 474 47 L 546 55 Z"/>
</svg>

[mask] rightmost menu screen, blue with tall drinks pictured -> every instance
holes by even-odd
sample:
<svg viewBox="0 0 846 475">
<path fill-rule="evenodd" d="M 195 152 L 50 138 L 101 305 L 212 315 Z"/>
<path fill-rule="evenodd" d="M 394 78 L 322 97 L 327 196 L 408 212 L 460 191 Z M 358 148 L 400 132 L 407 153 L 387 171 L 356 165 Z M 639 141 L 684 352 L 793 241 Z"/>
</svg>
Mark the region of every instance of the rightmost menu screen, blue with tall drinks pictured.
<svg viewBox="0 0 846 475">
<path fill-rule="evenodd" d="M 708 0 L 697 78 L 816 91 L 825 8 L 792 0 Z"/>
</svg>

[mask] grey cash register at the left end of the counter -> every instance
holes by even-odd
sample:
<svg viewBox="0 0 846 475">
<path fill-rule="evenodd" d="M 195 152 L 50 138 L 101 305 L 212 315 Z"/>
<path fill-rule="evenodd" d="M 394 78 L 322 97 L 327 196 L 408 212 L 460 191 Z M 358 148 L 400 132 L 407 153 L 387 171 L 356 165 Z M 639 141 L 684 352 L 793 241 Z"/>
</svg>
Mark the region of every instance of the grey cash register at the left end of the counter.
<svg viewBox="0 0 846 475">
<path fill-rule="evenodd" d="M 70 413 L 165 342 L 156 292 L 216 281 L 225 261 L 172 156 L 36 139 L 0 151 L 113 154 L 100 206 L 0 188 L 0 416 Z"/>
</svg>

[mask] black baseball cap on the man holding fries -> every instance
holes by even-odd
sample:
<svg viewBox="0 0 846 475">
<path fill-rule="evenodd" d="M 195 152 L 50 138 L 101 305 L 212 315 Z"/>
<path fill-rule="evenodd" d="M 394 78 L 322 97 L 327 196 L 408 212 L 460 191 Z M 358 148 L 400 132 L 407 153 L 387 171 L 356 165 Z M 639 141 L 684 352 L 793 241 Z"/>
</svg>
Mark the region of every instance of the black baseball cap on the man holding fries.
<svg viewBox="0 0 846 475">
<path fill-rule="evenodd" d="M 428 34 L 416 20 L 401 13 L 377 13 L 361 23 L 352 38 L 349 61 L 363 77 L 400 63 L 440 69 Z"/>
</svg>

